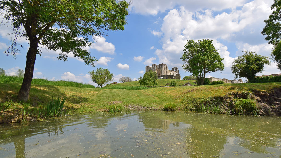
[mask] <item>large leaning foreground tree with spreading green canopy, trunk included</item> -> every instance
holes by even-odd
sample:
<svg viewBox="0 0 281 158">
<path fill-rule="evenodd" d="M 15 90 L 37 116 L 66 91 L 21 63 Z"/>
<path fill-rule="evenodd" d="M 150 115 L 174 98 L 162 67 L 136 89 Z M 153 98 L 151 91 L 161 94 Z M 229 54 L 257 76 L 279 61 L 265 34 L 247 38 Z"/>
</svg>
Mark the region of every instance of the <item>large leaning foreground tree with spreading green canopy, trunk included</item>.
<svg viewBox="0 0 281 158">
<path fill-rule="evenodd" d="M 0 14 L 15 35 L 5 52 L 16 56 L 19 37 L 29 41 L 18 99 L 28 100 L 35 58 L 41 55 L 38 45 L 60 52 L 59 60 L 67 61 L 67 54 L 72 53 L 94 66 L 97 59 L 83 47 L 105 31 L 124 30 L 128 5 L 117 0 L 1 0 Z"/>
</svg>

